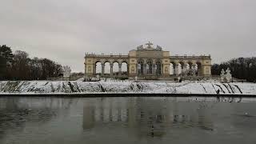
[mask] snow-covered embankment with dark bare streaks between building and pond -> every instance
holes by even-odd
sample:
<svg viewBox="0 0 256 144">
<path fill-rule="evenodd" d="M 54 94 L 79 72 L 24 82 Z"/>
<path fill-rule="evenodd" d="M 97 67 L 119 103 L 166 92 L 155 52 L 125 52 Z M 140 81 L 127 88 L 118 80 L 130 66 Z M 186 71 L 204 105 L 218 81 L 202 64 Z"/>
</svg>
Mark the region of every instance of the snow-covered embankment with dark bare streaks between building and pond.
<svg viewBox="0 0 256 144">
<path fill-rule="evenodd" d="M 254 83 L 2 81 L 0 94 L 255 94 Z"/>
</svg>

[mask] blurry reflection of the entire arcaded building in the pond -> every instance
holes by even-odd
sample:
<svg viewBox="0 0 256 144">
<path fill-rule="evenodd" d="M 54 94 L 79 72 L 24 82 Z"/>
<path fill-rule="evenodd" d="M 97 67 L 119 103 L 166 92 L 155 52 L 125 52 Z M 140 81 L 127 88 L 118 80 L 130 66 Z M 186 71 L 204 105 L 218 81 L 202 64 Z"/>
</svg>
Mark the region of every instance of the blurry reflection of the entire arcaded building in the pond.
<svg viewBox="0 0 256 144">
<path fill-rule="evenodd" d="M 164 98 L 102 98 L 85 102 L 83 129 L 100 128 L 105 124 L 115 129 L 127 126 L 127 132 L 138 137 L 162 137 L 175 126 L 212 130 L 213 122 L 199 102 L 171 102 Z"/>
</svg>

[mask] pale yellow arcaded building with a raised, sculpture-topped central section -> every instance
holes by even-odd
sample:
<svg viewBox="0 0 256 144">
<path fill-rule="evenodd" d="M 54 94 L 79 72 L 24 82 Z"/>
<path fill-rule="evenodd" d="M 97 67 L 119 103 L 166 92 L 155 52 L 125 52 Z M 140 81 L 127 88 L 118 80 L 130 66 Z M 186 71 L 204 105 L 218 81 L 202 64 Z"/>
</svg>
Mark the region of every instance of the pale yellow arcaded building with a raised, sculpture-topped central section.
<svg viewBox="0 0 256 144">
<path fill-rule="evenodd" d="M 162 50 L 161 46 L 138 46 L 130 50 L 128 55 L 86 54 L 85 76 L 96 77 L 96 64 L 101 63 L 101 77 L 106 78 L 139 78 L 139 79 L 168 79 L 174 77 L 209 77 L 211 75 L 211 58 L 209 56 L 178 56 L 170 55 L 170 51 Z M 105 74 L 105 63 L 110 63 L 110 73 Z M 126 73 L 122 72 L 122 63 L 127 66 Z M 118 63 L 118 73 L 113 72 L 114 63 Z"/>
</svg>

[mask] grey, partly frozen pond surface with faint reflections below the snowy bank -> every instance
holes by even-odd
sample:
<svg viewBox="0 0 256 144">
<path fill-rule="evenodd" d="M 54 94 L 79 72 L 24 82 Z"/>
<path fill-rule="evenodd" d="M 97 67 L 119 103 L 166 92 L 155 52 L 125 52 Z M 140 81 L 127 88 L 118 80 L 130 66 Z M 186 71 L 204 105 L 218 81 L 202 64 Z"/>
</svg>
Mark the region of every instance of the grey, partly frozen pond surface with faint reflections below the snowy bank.
<svg viewBox="0 0 256 144">
<path fill-rule="evenodd" d="M 0 98 L 0 143 L 256 143 L 255 98 Z"/>
</svg>

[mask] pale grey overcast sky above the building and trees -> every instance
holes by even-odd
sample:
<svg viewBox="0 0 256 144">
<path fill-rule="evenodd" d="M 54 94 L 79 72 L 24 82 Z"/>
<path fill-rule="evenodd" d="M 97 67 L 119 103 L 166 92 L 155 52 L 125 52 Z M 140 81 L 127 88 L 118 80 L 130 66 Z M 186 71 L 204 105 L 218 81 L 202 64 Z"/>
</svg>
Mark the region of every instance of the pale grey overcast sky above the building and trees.
<svg viewBox="0 0 256 144">
<path fill-rule="evenodd" d="M 83 71 L 86 52 L 153 42 L 213 62 L 256 56 L 255 0 L 1 0 L 0 45 Z"/>
</svg>

